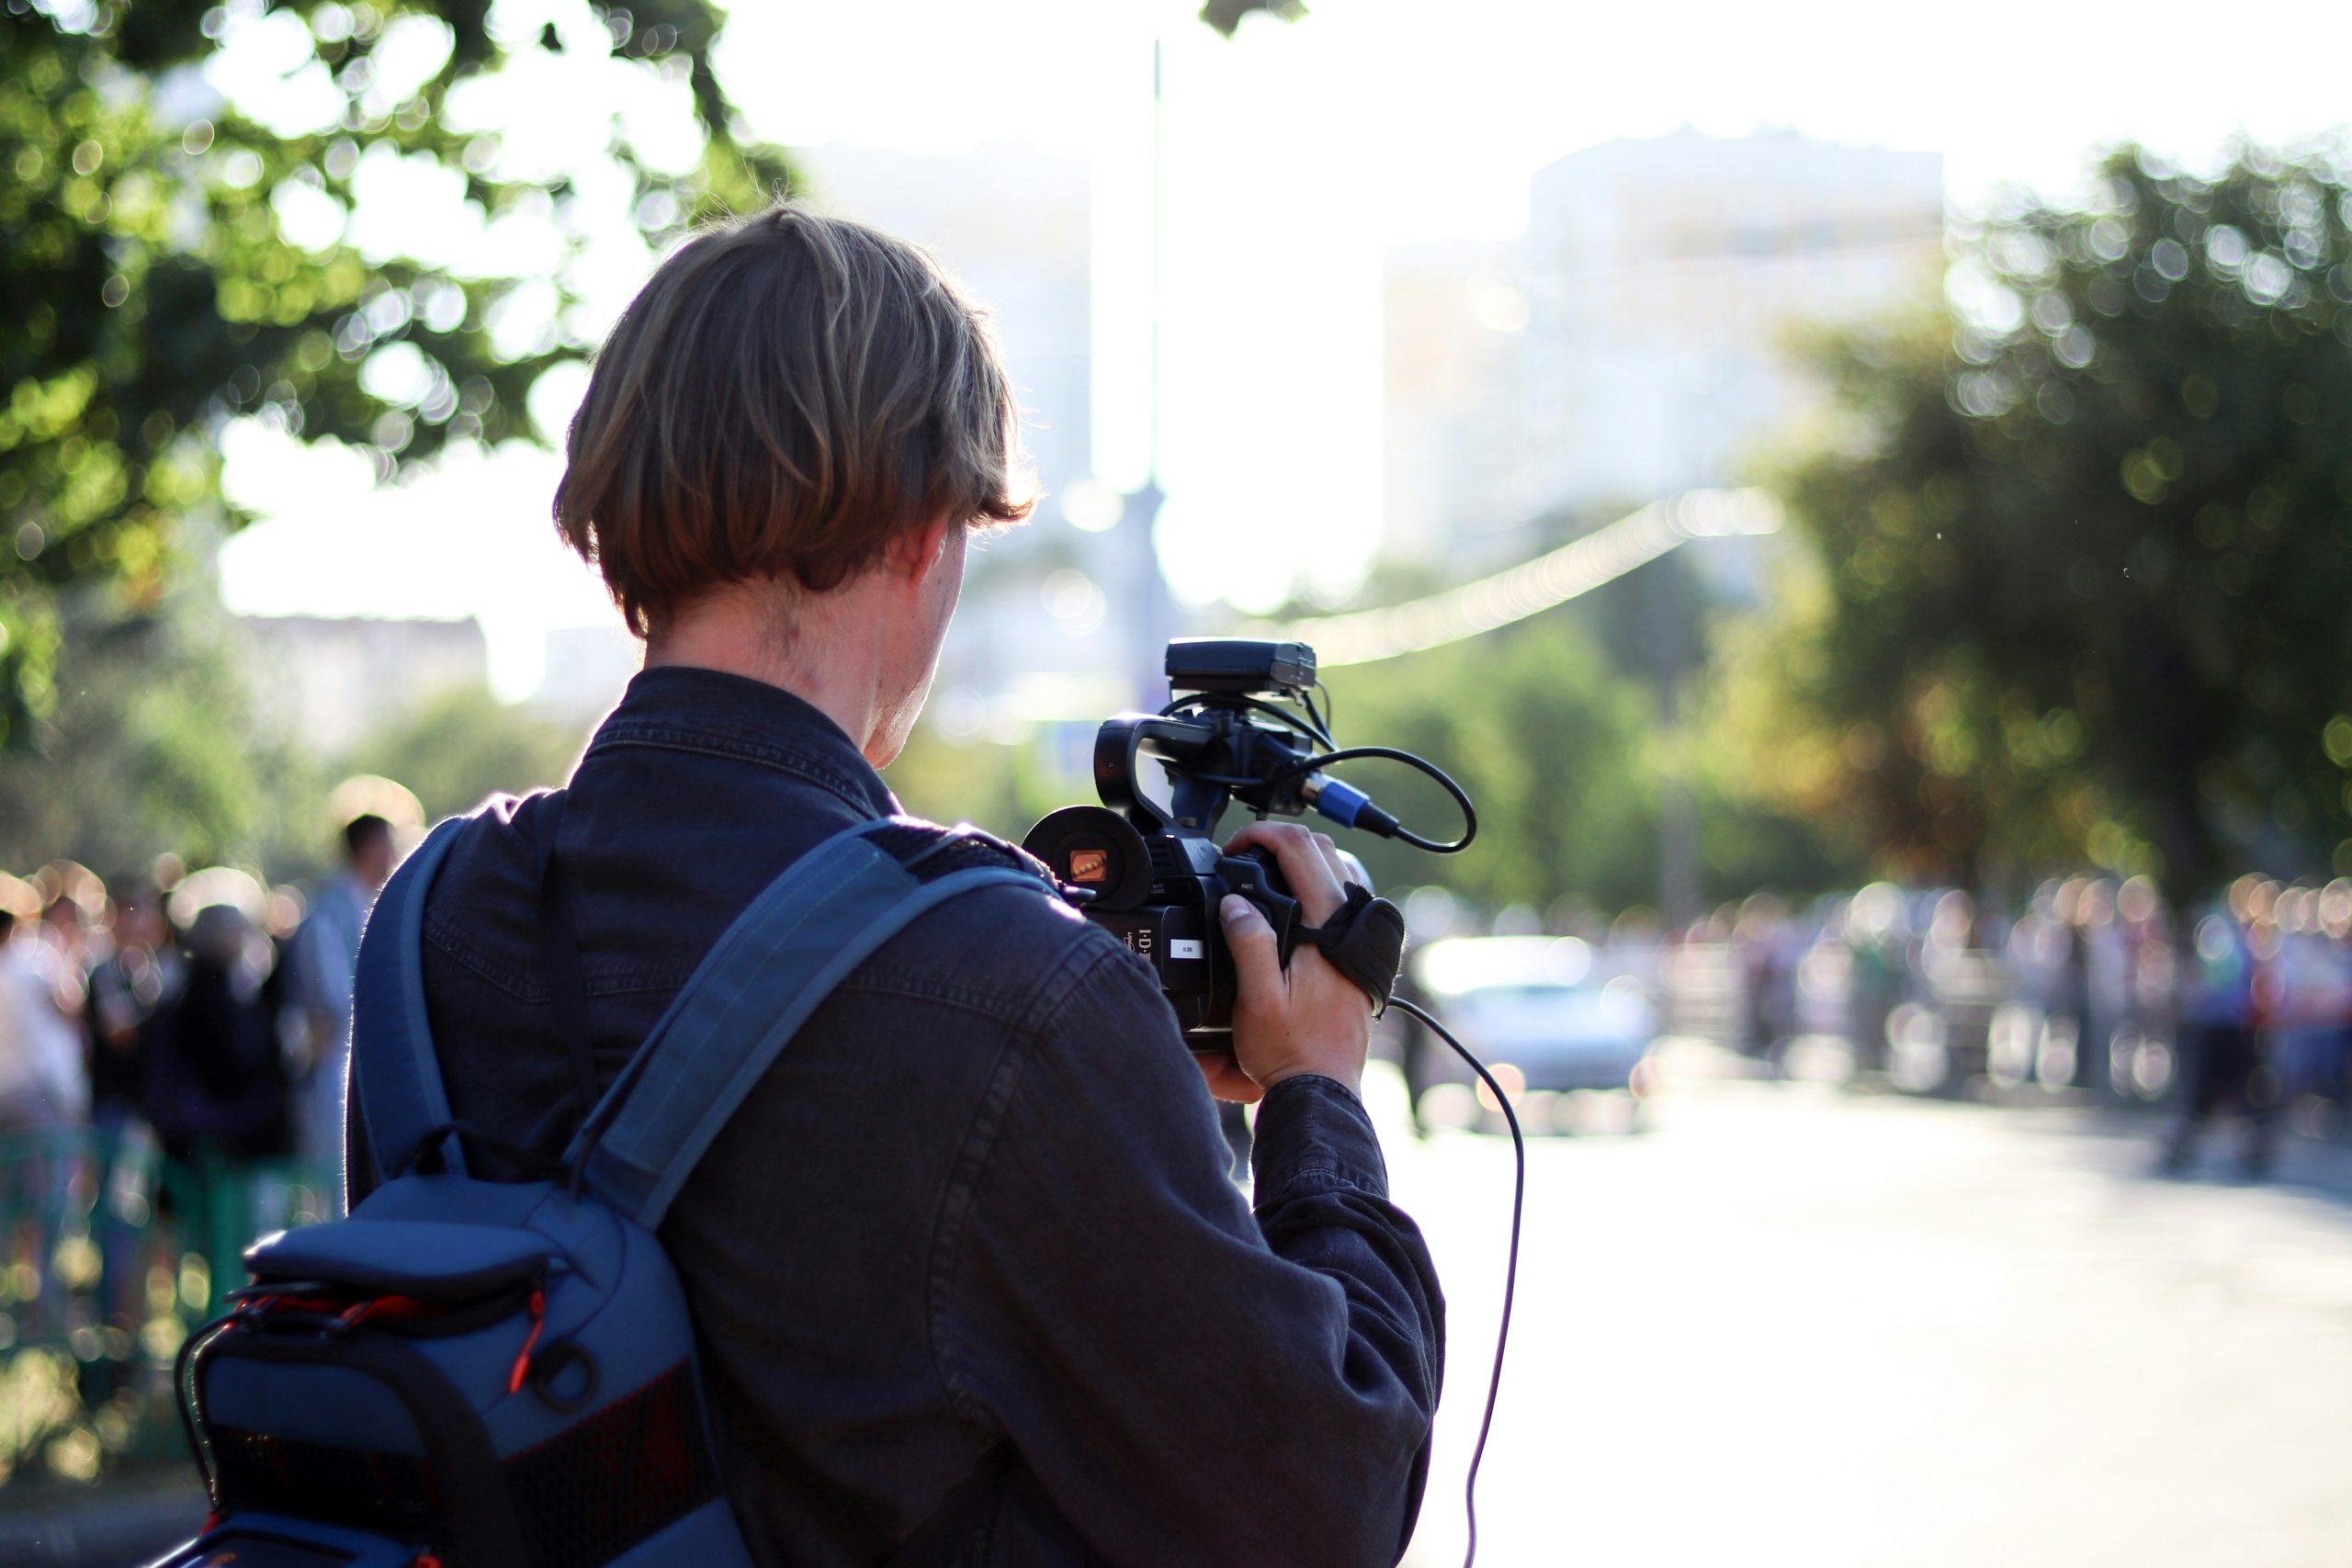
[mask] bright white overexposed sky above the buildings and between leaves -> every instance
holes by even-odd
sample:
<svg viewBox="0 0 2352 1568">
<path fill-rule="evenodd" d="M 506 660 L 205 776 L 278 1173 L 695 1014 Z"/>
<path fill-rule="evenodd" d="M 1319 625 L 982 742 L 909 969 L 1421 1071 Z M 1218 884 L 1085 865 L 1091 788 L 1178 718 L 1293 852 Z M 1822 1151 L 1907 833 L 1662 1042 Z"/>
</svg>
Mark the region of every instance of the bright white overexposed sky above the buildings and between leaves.
<svg viewBox="0 0 2352 1568">
<path fill-rule="evenodd" d="M 1294 581 L 1343 588 L 1364 569 L 1378 517 L 1381 247 L 1519 233 L 1529 174 L 1564 153 L 1679 125 L 1722 136 L 1785 125 L 1943 150 L 1952 200 L 1973 207 L 2009 181 L 2067 190 L 2093 148 L 2124 136 L 2206 162 L 2239 132 L 2298 141 L 2345 118 L 2326 47 L 2340 0 L 1310 2 L 1296 26 L 1251 19 L 1228 42 L 1192 19 L 1192 0 L 739 0 L 722 40 L 736 103 L 786 146 L 953 153 L 1025 139 L 1094 160 L 1096 470 L 1129 487 L 1145 449 L 1157 28 L 1171 496 L 1160 545 L 1192 599 L 1263 604 Z M 581 0 L 499 0 L 494 28 L 520 40 L 548 19 L 574 38 L 593 28 Z M 273 75 L 301 66 L 285 45 L 240 45 L 216 82 L 299 122 L 301 73 L 294 85 Z M 268 56 L 266 68 L 247 56 Z M 602 61 L 567 73 L 539 59 L 466 113 L 515 127 L 510 155 L 529 167 L 602 146 L 614 113 L 642 146 L 689 150 L 675 94 Z M 510 256 L 532 242 L 527 226 L 482 237 L 419 221 L 442 200 L 421 172 L 386 169 L 379 188 L 355 216 L 372 247 Z M 609 320 L 649 266 L 633 240 L 602 247 L 581 327 Z M 576 378 L 534 402 L 560 430 L 569 400 Z M 235 433 L 233 494 L 266 520 L 223 548 L 223 595 L 254 614 L 475 614 L 494 682 L 522 696 L 548 628 L 609 616 L 553 543 L 555 475 L 548 454 L 510 449 L 372 491 L 348 454 Z M 1047 512 L 1033 527 L 1065 527 Z"/>
</svg>

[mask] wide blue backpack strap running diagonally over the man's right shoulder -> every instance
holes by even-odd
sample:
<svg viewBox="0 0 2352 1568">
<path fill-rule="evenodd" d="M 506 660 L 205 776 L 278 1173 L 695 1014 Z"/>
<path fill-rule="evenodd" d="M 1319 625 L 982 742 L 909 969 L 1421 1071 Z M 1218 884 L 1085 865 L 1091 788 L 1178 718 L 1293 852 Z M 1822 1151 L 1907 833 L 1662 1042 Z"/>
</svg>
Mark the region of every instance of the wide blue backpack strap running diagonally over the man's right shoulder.
<svg viewBox="0 0 2352 1568">
<path fill-rule="evenodd" d="M 983 886 L 1047 884 L 974 827 L 858 823 L 788 865 L 696 966 L 588 1114 L 564 1164 L 654 1229 L 800 1025 L 924 910 Z"/>
</svg>

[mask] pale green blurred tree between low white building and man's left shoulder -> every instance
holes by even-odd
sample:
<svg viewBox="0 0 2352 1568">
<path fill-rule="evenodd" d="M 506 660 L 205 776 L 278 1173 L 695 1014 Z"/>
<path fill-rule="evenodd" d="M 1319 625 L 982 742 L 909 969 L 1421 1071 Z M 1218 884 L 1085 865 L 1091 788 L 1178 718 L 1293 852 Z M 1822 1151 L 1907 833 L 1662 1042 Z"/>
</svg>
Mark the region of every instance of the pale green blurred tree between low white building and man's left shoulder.
<svg viewBox="0 0 2352 1568">
<path fill-rule="evenodd" d="M 341 771 L 397 778 L 437 823 L 501 790 L 527 795 L 564 783 L 586 743 L 572 724 L 501 703 L 487 686 L 459 686 L 383 726 Z"/>
</svg>

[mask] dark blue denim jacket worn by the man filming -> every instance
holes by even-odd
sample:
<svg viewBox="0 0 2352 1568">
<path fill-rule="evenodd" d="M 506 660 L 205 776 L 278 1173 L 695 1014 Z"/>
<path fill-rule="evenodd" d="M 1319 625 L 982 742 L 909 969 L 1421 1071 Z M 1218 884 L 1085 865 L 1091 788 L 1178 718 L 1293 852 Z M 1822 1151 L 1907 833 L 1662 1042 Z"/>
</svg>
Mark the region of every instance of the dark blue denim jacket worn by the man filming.
<svg viewBox="0 0 2352 1568">
<path fill-rule="evenodd" d="M 557 1150 L 586 1088 L 539 959 L 541 799 L 494 802 L 452 851 L 426 997 L 454 1114 Z M 781 689 L 630 682 L 557 837 L 600 1081 L 769 879 L 894 811 Z M 887 943 L 661 1227 L 757 1561 L 882 1561 L 1011 1443 L 974 1561 L 1392 1563 L 1442 1378 L 1428 1248 L 1331 1079 L 1265 1098 L 1254 1164 L 1251 1208 L 1152 973 L 1047 889 Z M 365 1150 L 350 1168 L 360 1197 Z"/>
</svg>

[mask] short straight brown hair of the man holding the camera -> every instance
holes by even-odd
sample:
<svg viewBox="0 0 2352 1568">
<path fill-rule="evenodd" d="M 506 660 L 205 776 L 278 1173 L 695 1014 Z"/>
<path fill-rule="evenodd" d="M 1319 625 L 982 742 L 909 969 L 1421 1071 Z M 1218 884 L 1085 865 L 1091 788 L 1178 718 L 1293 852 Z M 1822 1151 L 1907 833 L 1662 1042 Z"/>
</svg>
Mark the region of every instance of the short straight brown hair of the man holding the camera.
<svg viewBox="0 0 2352 1568">
<path fill-rule="evenodd" d="M 640 637 L 724 583 L 826 592 L 943 515 L 1018 522 L 1018 409 L 929 252 L 779 202 L 680 247 L 604 339 L 555 527 Z"/>
</svg>

